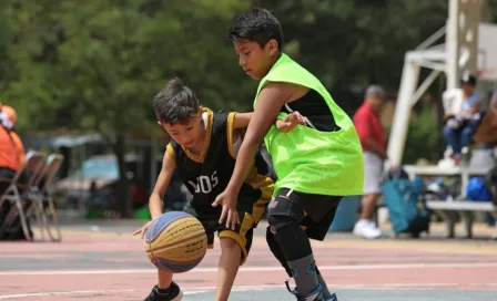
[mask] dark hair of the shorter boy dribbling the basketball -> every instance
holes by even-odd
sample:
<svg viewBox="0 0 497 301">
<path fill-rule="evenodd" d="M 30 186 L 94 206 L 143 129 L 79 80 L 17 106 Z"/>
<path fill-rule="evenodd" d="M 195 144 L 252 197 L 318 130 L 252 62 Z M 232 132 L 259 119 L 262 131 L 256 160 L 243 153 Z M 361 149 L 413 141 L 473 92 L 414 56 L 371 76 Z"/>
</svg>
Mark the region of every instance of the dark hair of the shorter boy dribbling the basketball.
<svg viewBox="0 0 497 301">
<path fill-rule="evenodd" d="M 169 124 L 186 123 L 199 112 L 195 93 L 174 77 L 153 97 L 158 120 Z"/>
</svg>

